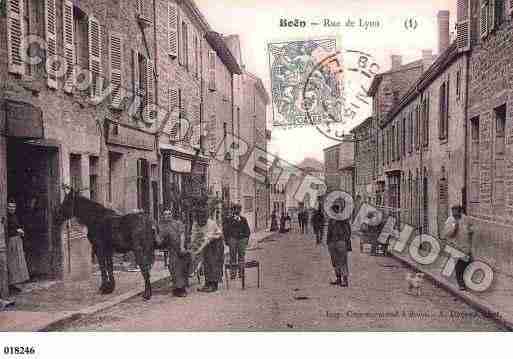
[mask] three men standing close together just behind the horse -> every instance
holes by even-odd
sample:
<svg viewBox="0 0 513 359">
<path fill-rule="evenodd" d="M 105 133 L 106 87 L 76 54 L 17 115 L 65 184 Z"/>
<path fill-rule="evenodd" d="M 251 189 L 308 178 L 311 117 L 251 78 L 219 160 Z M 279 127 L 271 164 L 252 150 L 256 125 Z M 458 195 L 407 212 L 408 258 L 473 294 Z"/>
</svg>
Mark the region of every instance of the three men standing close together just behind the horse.
<svg viewBox="0 0 513 359">
<path fill-rule="evenodd" d="M 173 295 L 177 297 L 187 296 L 189 276 L 195 269 L 197 259 L 202 260 L 205 275 L 205 285 L 198 290 L 205 293 L 218 290 L 225 265 L 225 244 L 230 250 L 231 279 L 236 279 L 237 274 L 239 278 L 244 275 L 246 248 L 251 231 L 247 219 L 241 216 L 242 207 L 239 204 L 233 205 L 224 213 L 222 223 L 215 219 L 216 210 L 215 206 L 208 206 L 205 203 L 194 209 L 189 243 L 186 241 L 186 228 L 180 218 L 180 212 L 164 211 L 159 231 L 169 250 L 169 271 L 174 283 Z M 197 241 L 199 237 L 203 239 L 204 247 L 191 248 L 192 242 L 202 242 Z"/>
</svg>

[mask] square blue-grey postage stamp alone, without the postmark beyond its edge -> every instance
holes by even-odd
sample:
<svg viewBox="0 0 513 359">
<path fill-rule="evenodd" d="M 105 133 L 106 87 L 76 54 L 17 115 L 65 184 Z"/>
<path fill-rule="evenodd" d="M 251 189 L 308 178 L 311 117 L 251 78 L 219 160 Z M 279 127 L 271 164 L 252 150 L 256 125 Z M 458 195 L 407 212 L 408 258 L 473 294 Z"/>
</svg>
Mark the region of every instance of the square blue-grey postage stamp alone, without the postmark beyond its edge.
<svg viewBox="0 0 513 359">
<path fill-rule="evenodd" d="M 343 72 L 317 66 L 337 51 L 336 38 L 268 44 L 273 126 L 303 127 L 341 120 Z"/>
</svg>

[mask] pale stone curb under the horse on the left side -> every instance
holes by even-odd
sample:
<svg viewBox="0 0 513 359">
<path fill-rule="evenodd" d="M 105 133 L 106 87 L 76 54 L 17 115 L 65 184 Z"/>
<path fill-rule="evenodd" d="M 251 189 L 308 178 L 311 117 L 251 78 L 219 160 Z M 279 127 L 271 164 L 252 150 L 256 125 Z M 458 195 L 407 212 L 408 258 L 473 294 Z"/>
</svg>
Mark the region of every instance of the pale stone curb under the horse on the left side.
<svg viewBox="0 0 513 359">
<path fill-rule="evenodd" d="M 169 278 L 169 275 L 166 275 L 162 278 L 155 279 L 151 281 L 152 286 L 158 284 L 161 281 L 164 281 Z M 86 307 L 84 309 L 80 309 L 73 312 L 67 312 L 64 313 L 62 316 L 56 318 L 54 321 L 52 321 L 49 324 L 46 324 L 43 327 L 34 328 L 33 332 L 48 332 L 53 330 L 58 330 L 59 327 L 62 327 L 63 325 L 66 325 L 70 322 L 73 322 L 77 319 L 82 318 L 83 316 L 95 314 L 98 312 L 101 312 L 102 310 L 114 307 L 120 303 L 123 303 L 129 299 L 132 299 L 134 297 L 137 297 L 138 295 L 142 294 L 144 292 L 144 289 L 132 289 L 126 293 L 120 294 L 106 302 L 102 302 L 99 304 L 95 304 L 89 307 Z"/>
</svg>

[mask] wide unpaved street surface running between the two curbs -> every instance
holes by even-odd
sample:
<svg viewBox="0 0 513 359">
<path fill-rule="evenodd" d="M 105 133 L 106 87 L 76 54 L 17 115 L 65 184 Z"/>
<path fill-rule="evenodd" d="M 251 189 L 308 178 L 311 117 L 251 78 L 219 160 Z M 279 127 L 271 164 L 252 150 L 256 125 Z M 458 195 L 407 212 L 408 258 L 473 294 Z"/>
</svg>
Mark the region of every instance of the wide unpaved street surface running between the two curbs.
<svg viewBox="0 0 513 359">
<path fill-rule="evenodd" d="M 426 281 L 419 297 L 407 293 L 410 271 L 388 257 L 359 251 L 353 239 L 349 288 L 329 285 L 331 264 L 325 245 L 313 236 L 276 235 L 253 244 L 248 259 L 262 266 L 248 269 L 247 287 L 231 281 L 217 293 L 171 296 L 169 284 L 156 288 L 151 301 L 133 298 L 109 310 L 59 328 L 64 331 L 167 330 L 503 330 L 471 307 Z"/>
</svg>

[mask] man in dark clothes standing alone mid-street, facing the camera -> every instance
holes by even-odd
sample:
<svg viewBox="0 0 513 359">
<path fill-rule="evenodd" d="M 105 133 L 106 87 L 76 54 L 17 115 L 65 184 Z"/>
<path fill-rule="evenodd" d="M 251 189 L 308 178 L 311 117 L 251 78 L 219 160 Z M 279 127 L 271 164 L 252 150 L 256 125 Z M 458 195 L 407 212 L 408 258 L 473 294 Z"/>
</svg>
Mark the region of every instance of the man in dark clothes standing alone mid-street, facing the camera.
<svg viewBox="0 0 513 359">
<path fill-rule="evenodd" d="M 334 204 L 332 210 L 337 215 L 342 212 L 343 208 L 339 204 Z M 351 251 L 351 224 L 349 219 L 329 219 L 327 244 L 331 256 L 331 264 L 337 277 L 330 284 L 347 287 L 349 285 L 347 253 Z"/>
</svg>

